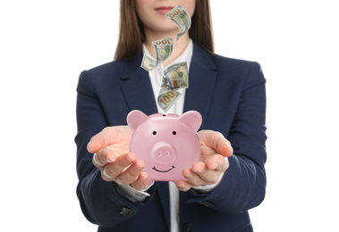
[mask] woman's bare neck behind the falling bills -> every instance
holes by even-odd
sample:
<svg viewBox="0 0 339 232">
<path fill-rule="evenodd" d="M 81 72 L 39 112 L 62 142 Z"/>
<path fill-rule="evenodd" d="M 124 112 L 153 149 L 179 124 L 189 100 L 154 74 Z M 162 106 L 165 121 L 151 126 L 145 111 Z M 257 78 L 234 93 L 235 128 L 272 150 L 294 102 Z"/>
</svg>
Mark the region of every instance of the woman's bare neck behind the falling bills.
<svg viewBox="0 0 339 232">
<path fill-rule="evenodd" d="M 145 31 L 146 32 L 146 31 Z M 179 31 L 178 31 L 179 32 Z M 190 43 L 189 33 L 186 32 L 178 41 L 176 41 L 176 34 L 173 33 L 162 33 L 162 34 L 154 34 L 154 33 L 145 33 L 145 46 L 148 49 L 149 54 L 151 54 L 154 58 L 156 57 L 155 51 L 153 49 L 152 42 L 165 37 L 173 37 L 174 39 L 174 50 L 170 57 L 164 62 L 164 67 L 169 63 L 173 62 L 176 58 L 178 58 L 183 51 L 185 51 L 186 47 Z"/>
</svg>

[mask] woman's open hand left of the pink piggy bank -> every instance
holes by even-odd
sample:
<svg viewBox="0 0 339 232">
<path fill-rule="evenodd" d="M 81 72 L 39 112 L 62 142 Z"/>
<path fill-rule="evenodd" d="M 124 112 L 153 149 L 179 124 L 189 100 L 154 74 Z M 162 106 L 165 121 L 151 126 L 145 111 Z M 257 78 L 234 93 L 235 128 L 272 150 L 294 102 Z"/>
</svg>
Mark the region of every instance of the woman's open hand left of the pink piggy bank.
<svg viewBox="0 0 339 232">
<path fill-rule="evenodd" d="M 107 127 L 90 139 L 87 149 L 94 153 L 93 164 L 103 179 L 141 190 L 148 183 L 148 174 L 141 172 L 145 163 L 129 153 L 130 140 L 128 126 Z"/>
</svg>

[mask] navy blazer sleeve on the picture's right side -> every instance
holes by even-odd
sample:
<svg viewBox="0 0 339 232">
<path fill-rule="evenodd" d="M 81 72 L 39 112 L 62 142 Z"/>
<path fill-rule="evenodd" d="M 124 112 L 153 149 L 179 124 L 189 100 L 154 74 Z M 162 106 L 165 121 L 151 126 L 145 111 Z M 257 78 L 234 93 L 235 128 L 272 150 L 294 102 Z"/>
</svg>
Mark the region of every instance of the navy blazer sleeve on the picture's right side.
<svg viewBox="0 0 339 232">
<path fill-rule="evenodd" d="M 266 79 L 257 62 L 249 63 L 227 137 L 233 145 L 229 169 L 213 192 L 208 195 L 192 192 L 189 200 L 229 214 L 248 211 L 265 198 Z"/>
</svg>

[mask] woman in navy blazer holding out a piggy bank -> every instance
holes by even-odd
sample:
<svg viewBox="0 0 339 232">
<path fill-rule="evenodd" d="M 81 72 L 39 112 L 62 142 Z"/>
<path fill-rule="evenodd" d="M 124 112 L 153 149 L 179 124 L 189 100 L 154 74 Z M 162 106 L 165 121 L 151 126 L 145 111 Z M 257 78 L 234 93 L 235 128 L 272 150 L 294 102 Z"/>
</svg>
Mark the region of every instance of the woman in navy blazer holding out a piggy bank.
<svg viewBox="0 0 339 232">
<path fill-rule="evenodd" d="M 179 32 L 165 17 L 177 4 L 121 0 L 114 62 L 81 73 L 77 194 L 98 231 L 252 231 L 248 210 L 264 199 L 266 80 L 256 62 L 213 54 L 208 1 L 181 1 L 191 16 L 189 33 L 162 65 L 140 68 L 143 53 L 155 57 L 152 41 Z M 185 179 L 145 188 L 144 162 L 128 153 L 131 130 L 120 125 L 131 110 L 160 111 L 157 79 L 181 61 L 188 63 L 190 87 L 170 111 L 202 115 L 200 160 L 182 170 Z"/>
</svg>

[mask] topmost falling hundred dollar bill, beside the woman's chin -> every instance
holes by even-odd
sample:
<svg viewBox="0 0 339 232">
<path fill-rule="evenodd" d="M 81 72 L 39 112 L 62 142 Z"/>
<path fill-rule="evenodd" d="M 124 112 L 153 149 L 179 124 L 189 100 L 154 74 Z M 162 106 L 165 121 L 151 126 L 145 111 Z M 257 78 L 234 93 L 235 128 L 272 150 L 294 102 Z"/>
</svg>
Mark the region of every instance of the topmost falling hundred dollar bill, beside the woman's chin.
<svg viewBox="0 0 339 232">
<path fill-rule="evenodd" d="M 180 29 L 180 33 L 178 33 L 176 36 L 176 41 L 178 41 L 179 38 L 182 37 L 182 35 L 191 28 L 191 17 L 183 9 L 181 4 L 178 4 L 170 12 L 167 12 L 166 17 L 174 21 Z"/>
</svg>

